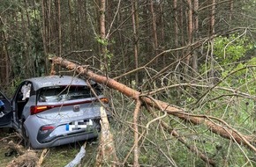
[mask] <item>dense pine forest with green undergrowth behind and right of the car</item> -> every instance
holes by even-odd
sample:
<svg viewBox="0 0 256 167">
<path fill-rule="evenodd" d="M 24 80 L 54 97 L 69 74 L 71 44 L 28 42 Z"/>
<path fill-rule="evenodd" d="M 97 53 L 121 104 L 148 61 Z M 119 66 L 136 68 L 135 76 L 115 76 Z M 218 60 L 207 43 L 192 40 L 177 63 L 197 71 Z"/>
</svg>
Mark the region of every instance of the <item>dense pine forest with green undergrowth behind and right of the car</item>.
<svg viewBox="0 0 256 167">
<path fill-rule="evenodd" d="M 1 91 L 49 75 L 57 56 L 141 94 L 142 104 L 106 86 L 116 164 L 255 166 L 255 9 L 255 0 L 1 0 Z M 147 96 L 169 105 L 145 105 Z"/>
</svg>

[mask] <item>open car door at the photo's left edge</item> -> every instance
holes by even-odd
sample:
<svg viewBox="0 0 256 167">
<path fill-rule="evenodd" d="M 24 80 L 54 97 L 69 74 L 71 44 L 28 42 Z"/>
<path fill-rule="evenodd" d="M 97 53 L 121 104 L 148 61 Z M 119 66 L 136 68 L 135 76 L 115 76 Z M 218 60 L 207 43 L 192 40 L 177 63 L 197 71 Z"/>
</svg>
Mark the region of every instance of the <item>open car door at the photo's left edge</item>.
<svg viewBox="0 0 256 167">
<path fill-rule="evenodd" d="M 0 111 L 0 127 L 10 127 L 12 120 L 11 102 L 1 91 L 0 100 L 4 103 L 4 108 Z"/>
</svg>

